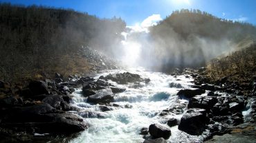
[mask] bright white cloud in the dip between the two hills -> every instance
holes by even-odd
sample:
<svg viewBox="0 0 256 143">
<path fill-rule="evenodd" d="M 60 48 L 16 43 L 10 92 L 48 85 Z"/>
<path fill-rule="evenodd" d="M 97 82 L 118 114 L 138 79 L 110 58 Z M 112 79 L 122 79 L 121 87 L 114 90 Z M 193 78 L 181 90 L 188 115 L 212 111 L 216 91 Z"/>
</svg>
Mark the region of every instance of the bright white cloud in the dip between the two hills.
<svg viewBox="0 0 256 143">
<path fill-rule="evenodd" d="M 163 20 L 160 14 L 152 14 L 151 16 L 144 19 L 141 23 L 136 23 L 133 26 L 127 26 L 131 28 L 131 32 L 149 32 L 148 28 L 153 25 L 157 25 L 158 21 Z"/>
</svg>

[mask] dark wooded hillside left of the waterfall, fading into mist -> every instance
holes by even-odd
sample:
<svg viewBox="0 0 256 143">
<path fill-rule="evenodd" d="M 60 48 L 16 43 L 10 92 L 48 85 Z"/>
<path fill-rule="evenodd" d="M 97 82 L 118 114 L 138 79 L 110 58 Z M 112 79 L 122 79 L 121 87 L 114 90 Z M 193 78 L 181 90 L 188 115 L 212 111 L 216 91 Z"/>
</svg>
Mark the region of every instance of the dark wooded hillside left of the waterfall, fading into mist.
<svg viewBox="0 0 256 143">
<path fill-rule="evenodd" d="M 98 19 L 74 10 L 0 3 L 0 77 L 75 74 L 93 69 L 82 46 L 111 55 L 125 29 L 122 19 Z"/>
</svg>

